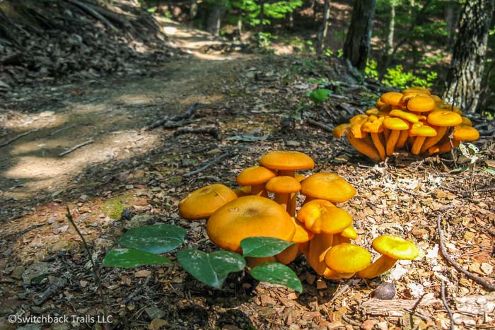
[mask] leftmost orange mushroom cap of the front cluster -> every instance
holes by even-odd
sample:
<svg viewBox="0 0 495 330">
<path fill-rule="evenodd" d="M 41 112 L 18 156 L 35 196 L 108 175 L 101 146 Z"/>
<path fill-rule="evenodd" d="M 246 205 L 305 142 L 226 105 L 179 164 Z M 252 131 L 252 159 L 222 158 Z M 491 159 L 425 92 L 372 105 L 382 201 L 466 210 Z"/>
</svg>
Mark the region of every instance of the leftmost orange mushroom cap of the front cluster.
<svg viewBox="0 0 495 330">
<path fill-rule="evenodd" d="M 237 199 L 237 194 L 229 187 L 211 184 L 187 194 L 179 202 L 179 214 L 189 220 L 208 218 L 218 208 L 234 199 Z"/>
</svg>

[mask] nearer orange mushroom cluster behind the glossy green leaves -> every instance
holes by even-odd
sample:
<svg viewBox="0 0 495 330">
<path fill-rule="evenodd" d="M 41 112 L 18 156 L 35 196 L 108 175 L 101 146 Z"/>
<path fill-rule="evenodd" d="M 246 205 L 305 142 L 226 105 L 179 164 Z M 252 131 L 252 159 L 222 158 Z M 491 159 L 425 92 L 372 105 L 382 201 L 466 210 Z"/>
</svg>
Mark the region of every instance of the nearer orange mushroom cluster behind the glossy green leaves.
<svg viewBox="0 0 495 330">
<path fill-rule="evenodd" d="M 356 189 L 332 172 L 308 177 L 296 173 L 314 166 L 313 159 L 304 153 L 272 151 L 262 156 L 260 165 L 239 173 L 236 181 L 240 188 L 212 184 L 188 194 L 179 203 L 180 216 L 208 218 L 206 232 L 211 242 L 232 252 L 242 253 L 240 241 L 247 237 L 275 237 L 296 243 L 274 257 L 247 258 L 250 268 L 268 261 L 289 264 L 305 254 L 308 264 L 325 278 L 350 278 L 356 273 L 373 278 L 390 269 L 397 259 L 417 257 L 411 242 L 383 235 L 373 240 L 382 257 L 372 264 L 366 249 L 351 244 L 357 238 L 351 216 L 334 205 L 354 197 Z M 298 194 L 303 195 L 301 207 L 297 205 Z"/>
</svg>

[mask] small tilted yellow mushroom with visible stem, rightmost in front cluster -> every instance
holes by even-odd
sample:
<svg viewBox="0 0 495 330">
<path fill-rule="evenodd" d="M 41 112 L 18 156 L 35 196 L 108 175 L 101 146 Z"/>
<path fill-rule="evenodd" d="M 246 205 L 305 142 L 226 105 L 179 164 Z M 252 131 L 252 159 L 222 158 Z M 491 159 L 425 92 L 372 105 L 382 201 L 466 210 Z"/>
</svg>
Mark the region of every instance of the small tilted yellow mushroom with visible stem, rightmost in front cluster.
<svg viewBox="0 0 495 330">
<path fill-rule="evenodd" d="M 376 237 L 373 242 L 373 249 L 380 252 L 382 256 L 373 264 L 359 271 L 358 275 L 362 278 L 374 278 L 385 273 L 395 265 L 397 260 L 412 260 L 418 257 L 417 247 L 401 237 L 381 235 Z"/>
</svg>

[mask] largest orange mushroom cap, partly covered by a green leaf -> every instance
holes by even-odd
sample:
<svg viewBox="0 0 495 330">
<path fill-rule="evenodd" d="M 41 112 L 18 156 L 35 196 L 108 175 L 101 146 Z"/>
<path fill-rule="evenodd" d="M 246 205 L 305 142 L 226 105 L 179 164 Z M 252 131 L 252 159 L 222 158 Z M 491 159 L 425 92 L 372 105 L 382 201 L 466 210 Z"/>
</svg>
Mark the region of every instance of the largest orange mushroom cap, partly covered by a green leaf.
<svg viewBox="0 0 495 330">
<path fill-rule="evenodd" d="M 239 197 L 213 213 L 206 223 L 211 242 L 232 252 L 242 252 L 240 241 L 265 236 L 290 241 L 296 228 L 289 213 L 271 199 Z"/>
</svg>

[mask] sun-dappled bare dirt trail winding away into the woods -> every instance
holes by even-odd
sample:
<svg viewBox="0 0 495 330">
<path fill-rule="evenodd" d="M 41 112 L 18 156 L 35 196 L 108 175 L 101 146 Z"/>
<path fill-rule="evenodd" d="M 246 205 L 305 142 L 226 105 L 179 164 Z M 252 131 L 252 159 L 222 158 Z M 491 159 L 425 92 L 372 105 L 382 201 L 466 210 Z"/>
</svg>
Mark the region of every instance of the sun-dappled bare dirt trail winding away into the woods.
<svg viewBox="0 0 495 330">
<path fill-rule="evenodd" d="M 190 56 L 148 71 L 146 77 L 105 78 L 38 91 L 37 97 L 18 93 L 16 110 L 0 119 L 8 134 L 34 131 L 0 148 L 0 202 L 54 196 L 69 187 L 89 166 L 146 153 L 160 129 L 144 128 L 185 110 L 192 102 L 219 102 L 221 84 L 235 79 L 240 54 L 204 54 L 221 44 L 211 35 L 170 20 L 161 21 L 170 43 Z M 93 139 L 82 148 L 60 153 Z M 98 180 L 98 178 L 94 178 Z"/>
</svg>

